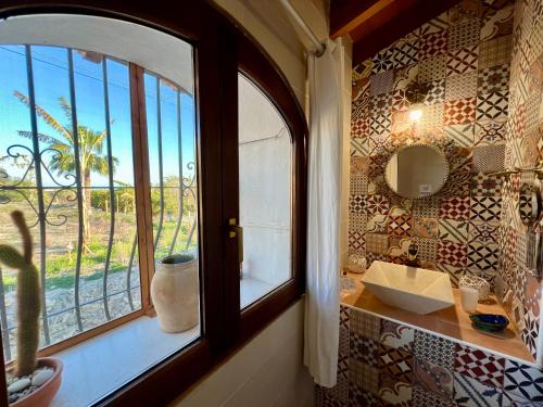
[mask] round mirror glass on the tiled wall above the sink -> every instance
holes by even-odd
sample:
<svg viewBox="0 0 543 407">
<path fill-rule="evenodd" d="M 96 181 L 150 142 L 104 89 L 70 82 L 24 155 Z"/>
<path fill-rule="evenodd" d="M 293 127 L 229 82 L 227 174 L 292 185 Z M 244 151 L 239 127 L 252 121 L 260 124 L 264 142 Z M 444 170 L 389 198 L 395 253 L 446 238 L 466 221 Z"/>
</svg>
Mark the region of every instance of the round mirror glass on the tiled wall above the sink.
<svg viewBox="0 0 543 407">
<path fill-rule="evenodd" d="M 412 144 L 397 150 L 389 160 L 384 179 L 400 196 L 417 199 L 438 192 L 449 177 L 449 162 L 437 148 Z"/>
</svg>

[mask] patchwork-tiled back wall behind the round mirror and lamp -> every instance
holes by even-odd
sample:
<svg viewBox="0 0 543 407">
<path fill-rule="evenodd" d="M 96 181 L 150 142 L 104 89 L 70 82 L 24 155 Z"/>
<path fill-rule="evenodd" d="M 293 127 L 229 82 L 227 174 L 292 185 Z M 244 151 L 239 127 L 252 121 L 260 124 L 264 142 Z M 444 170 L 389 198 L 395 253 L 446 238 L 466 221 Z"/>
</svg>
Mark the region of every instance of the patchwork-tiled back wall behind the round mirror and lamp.
<svg viewBox="0 0 543 407">
<path fill-rule="evenodd" d="M 409 240 L 427 268 L 466 270 L 492 281 L 498 270 L 510 1 L 463 1 L 353 69 L 350 255 L 401 260 Z M 428 82 L 420 122 L 408 119 L 405 88 Z M 388 157 L 409 142 L 449 157 L 437 195 L 400 199 L 383 181 Z"/>
</svg>

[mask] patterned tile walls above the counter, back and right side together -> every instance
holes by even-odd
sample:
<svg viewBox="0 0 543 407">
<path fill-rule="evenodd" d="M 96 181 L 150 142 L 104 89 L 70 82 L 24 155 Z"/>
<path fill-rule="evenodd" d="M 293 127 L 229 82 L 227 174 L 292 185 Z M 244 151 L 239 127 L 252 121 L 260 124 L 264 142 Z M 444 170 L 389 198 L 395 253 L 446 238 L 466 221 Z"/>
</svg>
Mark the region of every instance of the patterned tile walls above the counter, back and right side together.
<svg viewBox="0 0 543 407">
<path fill-rule="evenodd" d="M 413 81 L 431 85 L 415 125 Z M 425 267 L 496 283 L 534 358 L 535 234 L 517 215 L 520 177 L 489 173 L 543 160 L 542 84 L 543 2 L 463 0 L 355 66 L 352 92 L 350 255 L 400 263 L 415 241 Z M 441 148 L 452 164 L 435 196 L 400 199 L 384 185 L 388 157 L 413 141 Z"/>
</svg>

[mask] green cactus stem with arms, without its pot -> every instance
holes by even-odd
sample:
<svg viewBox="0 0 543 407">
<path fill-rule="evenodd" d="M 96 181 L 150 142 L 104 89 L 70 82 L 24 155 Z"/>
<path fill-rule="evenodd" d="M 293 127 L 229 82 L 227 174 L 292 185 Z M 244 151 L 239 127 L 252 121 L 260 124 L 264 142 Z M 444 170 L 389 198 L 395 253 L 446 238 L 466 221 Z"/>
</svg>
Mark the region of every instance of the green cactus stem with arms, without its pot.
<svg viewBox="0 0 543 407">
<path fill-rule="evenodd" d="M 22 212 L 14 211 L 11 218 L 23 238 L 23 253 L 0 244 L 0 263 L 17 269 L 17 359 L 15 374 L 31 374 L 37 367 L 39 345 L 39 315 L 41 308 L 39 275 L 33 264 L 33 241 Z"/>
</svg>

